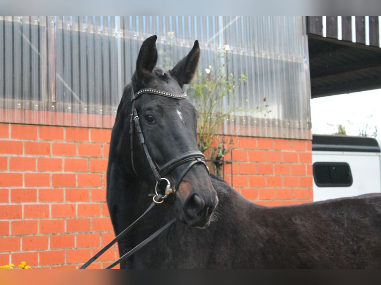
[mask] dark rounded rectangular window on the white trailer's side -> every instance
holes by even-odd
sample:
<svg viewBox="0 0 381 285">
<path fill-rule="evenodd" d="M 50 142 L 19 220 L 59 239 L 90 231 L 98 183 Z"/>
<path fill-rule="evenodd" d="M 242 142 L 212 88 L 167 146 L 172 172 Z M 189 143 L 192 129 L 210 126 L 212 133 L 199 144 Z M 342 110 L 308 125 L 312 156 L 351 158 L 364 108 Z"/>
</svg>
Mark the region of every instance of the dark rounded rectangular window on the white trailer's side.
<svg viewBox="0 0 381 285">
<path fill-rule="evenodd" d="M 351 167 L 346 162 L 315 162 L 313 179 L 318 187 L 349 187 L 353 183 Z"/>
</svg>

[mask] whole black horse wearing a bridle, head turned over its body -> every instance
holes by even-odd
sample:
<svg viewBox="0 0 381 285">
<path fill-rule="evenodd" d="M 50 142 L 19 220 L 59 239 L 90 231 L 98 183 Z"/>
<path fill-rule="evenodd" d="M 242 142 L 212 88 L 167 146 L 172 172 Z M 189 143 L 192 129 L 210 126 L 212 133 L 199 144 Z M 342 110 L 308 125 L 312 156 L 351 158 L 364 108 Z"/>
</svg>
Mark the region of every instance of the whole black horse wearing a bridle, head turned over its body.
<svg viewBox="0 0 381 285">
<path fill-rule="evenodd" d="M 381 268 L 381 195 L 263 207 L 208 174 L 197 151 L 197 111 L 182 89 L 197 69 L 198 42 L 163 71 L 155 67 L 156 38 L 143 42 L 118 107 L 107 203 L 119 234 L 155 189 L 164 201 L 118 241 L 120 256 L 177 221 L 121 268 Z"/>
</svg>

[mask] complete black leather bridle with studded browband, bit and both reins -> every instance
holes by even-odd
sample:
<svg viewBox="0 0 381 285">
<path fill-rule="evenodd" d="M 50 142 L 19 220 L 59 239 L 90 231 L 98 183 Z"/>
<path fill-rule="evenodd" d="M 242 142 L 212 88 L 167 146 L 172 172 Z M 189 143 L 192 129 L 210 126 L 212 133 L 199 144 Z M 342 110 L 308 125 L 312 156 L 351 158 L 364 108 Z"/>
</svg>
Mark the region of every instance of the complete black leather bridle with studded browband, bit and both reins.
<svg viewBox="0 0 381 285">
<path fill-rule="evenodd" d="M 138 116 L 138 112 L 135 108 L 135 100 L 142 94 L 152 94 L 152 95 L 160 95 L 165 97 L 170 97 L 174 99 L 184 99 L 187 97 L 187 92 L 183 92 L 181 95 L 172 94 L 166 91 L 160 91 L 153 88 L 144 88 L 136 92 L 136 94 L 133 91 L 133 88 L 131 87 L 131 102 L 132 102 L 132 108 L 131 108 L 131 115 L 130 115 L 130 152 L 131 152 L 131 165 L 134 173 L 139 177 L 138 173 L 135 169 L 134 164 L 134 134 L 136 133 L 139 141 L 143 147 L 144 153 L 146 155 L 146 158 L 148 160 L 148 163 L 150 165 L 151 171 L 155 176 L 156 185 L 155 185 L 155 194 L 153 194 L 153 202 L 151 205 L 147 208 L 147 210 L 139 216 L 133 223 L 131 223 L 127 228 L 125 228 L 121 233 L 119 233 L 113 240 L 111 240 L 106 246 L 104 246 L 98 253 L 95 254 L 91 259 L 89 259 L 83 266 L 80 267 L 80 269 L 87 268 L 90 264 L 92 264 L 100 255 L 102 255 L 107 249 L 109 249 L 113 244 L 115 244 L 118 240 L 120 240 L 132 227 L 145 215 L 147 214 L 155 205 L 161 204 L 164 202 L 164 200 L 171 194 L 175 194 L 176 190 L 179 188 L 179 185 L 181 181 L 183 180 L 184 176 L 187 174 L 187 172 L 191 169 L 191 167 L 197 163 L 202 163 L 205 165 L 206 170 L 209 174 L 209 168 L 207 167 L 205 163 L 205 155 L 198 150 L 191 150 L 187 151 L 183 154 L 180 154 L 168 162 L 166 162 L 163 166 L 159 167 L 157 163 L 152 159 L 149 150 L 147 148 L 147 144 L 145 143 L 145 139 L 143 136 L 143 131 L 140 126 L 140 119 Z M 185 169 L 181 172 L 180 177 L 175 185 L 173 185 L 166 176 L 168 173 L 170 173 L 172 170 L 177 168 L 180 165 L 183 165 L 185 163 L 188 163 Z M 167 183 L 165 186 L 165 190 L 163 193 L 160 191 L 159 187 L 161 186 L 162 182 Z M 155 237 L 157 237 L 161 232 L 163 232 L 166 228 L 168 228 L 171 224 L 173 224 L 176 221 L 176 218 L 173 218 L 168 223 L 166 223 L 163 227 L 161 227 L 159 230 L 157 230 L 155 233 L 153 233 L 151 236 L 149 236 L 147 239 L 139 243 L 137 246 L 135 246 L 133 249 L 128 251 L 126 254 L 124 254 L 122 257 L 120 257 L 118 260 L 116 260 L 114 263 L 106 267 L 105 269 L 113 268 L 115 265 L 119 264 L 122 260 L 126 259 L 127 257 L 134 254 L 136 251 L 138 251 L 140 248 L 145 246 L 147 243 L 152 241 Z"/>
</svg>

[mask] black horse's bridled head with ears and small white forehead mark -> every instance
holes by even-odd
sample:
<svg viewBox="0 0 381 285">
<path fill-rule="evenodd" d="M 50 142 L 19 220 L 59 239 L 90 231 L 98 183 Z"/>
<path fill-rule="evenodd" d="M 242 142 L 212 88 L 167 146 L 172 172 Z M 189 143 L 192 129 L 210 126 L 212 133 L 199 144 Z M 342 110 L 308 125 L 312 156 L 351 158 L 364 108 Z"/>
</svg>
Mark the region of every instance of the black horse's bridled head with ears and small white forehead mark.
<svg viewBox="0 0 381 285">
<path fill-rule="evenodd" d="M 198 42 L 166 71 L 156 67 L 156 39 L 151 36 L 142 43 L 132 82 L 125 88 L 130 95 L 123 107 L 129 125 L 123 135 L 129 144 L 129 149 L 123 147 L 124 164 L 131 175 L 150 185 L 151 192 L 156 190 L 155 202 L 167 202 L 180 221 L 204 228 L 218 198 L 197 147 L 197 110 L 183 91 L 197 70 Z M 142 195 L 148 198 L 147 193 Z"/>
</svg>

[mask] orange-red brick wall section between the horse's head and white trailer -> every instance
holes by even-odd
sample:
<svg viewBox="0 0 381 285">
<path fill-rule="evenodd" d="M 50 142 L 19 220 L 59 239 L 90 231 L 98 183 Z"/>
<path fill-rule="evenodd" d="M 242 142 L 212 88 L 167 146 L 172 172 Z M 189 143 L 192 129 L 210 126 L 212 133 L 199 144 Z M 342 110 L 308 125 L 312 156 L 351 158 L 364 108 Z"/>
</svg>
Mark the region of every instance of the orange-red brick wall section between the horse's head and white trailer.
<svg viewBox="0 0 381 285">
<path fill-rule="evenodd" d="M 247 199 L 265 206 L 312 202 L 311 141 L 236 137 L 225 158 L 233 161 L 232 171 L 225 164 L 225 180 Z"/>
</svg>

